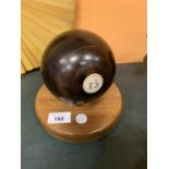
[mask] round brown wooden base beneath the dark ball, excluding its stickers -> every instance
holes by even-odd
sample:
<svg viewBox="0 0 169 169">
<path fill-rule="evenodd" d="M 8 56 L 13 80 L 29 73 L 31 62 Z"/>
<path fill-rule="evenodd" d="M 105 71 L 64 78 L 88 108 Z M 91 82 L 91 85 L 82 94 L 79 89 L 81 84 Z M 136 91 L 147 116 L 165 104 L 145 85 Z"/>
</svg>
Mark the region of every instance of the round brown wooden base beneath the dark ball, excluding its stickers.
<svg viewBox="0 0 169 169">
<path fill-rule="evenodd" d="M 119 119 L 121 109 L 122 96 L 116 84 L 112 84 L 104 96 L 84 106 L 73 106 L 61 101 L 45 85 L 39 88 L 35 100 L 36 116 L 44 129 L 50 135 L 72 143 L 85 143 L 102 137 Z M 70 123 L 48 123 L 49 113 L 65 111 L 71 113 Z M 85 123 L 76 122 L 79 113 L 86 114 Z"/>
</svg>

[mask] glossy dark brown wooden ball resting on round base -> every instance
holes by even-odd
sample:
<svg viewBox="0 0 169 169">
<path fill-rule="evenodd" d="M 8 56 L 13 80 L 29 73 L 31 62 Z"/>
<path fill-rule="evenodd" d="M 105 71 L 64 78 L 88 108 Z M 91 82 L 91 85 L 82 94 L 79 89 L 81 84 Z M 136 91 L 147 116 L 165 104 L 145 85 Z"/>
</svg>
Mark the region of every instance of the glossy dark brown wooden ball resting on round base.
<svg viewBox="0 0 169 169">
<path fill-rule="evenodd" d="M 81 29 L 57 36 L 41 61 L 47 88 L 73 105 L 84 105 L 101 96 L 110 87 L 114 73 L 113 53 L 106 41 Z"/>
</svg>

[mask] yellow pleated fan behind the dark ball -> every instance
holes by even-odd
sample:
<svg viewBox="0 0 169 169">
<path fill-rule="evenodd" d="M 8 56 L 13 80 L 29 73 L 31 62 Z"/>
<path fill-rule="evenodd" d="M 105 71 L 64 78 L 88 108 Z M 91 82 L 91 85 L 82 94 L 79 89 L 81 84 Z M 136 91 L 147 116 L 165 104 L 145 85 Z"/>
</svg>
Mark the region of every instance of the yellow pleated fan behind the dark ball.
<svg viewBox="0 0 169 169">
<path fill-rule="evenodd" d="M 21 74 L 40 67 L 48 44 L 72 28 L 74 12 L 75 0 L 21 1 Z"/>
</svg>

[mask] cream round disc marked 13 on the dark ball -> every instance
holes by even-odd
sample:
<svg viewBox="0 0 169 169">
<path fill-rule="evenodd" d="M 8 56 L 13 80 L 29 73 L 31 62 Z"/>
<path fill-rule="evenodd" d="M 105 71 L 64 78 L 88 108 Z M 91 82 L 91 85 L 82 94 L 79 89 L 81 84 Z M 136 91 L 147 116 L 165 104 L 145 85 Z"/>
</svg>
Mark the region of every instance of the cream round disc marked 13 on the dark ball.
<svg viewBox="0 0 169 169">
<path fill-rule="evenodd" d="M 98 73 L 93 73 L 86 76 L 86 79 L 83 82 L 83 89 L 87 94 L 94 94 L 98 92 L 104 84 L 104 79 Z"/>
</svg>

